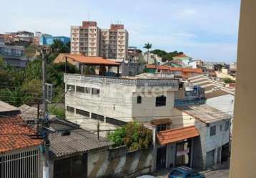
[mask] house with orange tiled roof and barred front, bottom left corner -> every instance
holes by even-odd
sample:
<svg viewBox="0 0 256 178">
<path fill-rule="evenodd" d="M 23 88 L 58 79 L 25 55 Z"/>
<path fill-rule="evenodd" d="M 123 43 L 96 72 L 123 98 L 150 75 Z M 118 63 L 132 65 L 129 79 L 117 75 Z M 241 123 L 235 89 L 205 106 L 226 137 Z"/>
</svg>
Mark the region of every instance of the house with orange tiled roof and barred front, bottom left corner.
<svg viewBox="0 0 256 178">
<path fill-rule="evenodd" d="M 0 177 L 41 177 L 36 132 L 19 117 L 19 109 L 0 101 Z"/>
</svg>

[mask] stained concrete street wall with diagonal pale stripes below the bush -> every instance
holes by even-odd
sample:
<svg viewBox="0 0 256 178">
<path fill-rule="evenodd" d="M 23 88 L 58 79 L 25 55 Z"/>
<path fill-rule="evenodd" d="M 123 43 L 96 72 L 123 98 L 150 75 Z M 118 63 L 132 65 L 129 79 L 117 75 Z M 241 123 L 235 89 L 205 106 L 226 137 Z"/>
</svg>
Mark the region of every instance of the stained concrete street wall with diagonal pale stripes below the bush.
<svg viewBox="0 0 256 178">
<path fill-rule="evenodd" d="M 128 152 L 126 147 L 88 153 L 88 177 L 136 177 L 151 172 L 152 148 Z"/>
</svg>

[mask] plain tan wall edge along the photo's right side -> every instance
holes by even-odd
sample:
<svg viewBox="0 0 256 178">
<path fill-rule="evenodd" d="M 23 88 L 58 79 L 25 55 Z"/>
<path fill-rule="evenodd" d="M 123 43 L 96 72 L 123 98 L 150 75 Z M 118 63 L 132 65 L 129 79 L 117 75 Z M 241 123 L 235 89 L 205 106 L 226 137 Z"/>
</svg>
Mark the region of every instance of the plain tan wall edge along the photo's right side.
<svg viewBox="0 0 256 178">
<path fill-rule="evenodd" d="M 242 0 L 230 178 L 256 177 L 256 1 Z"/>
</svg>

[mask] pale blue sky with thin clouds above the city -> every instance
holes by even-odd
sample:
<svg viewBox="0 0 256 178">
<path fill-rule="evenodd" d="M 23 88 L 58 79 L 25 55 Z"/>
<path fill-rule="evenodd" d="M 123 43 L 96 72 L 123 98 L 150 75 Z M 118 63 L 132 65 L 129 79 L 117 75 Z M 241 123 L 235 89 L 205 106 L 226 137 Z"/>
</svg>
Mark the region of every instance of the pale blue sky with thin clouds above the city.
<svg viewBox="0 0 256 178">
<path fill-rule="evenodd" d="M 129 46 L 183 51 L 205 61 L 237 58 L 240 0 L 9 0 L 1 2 L 0 33 L 41 31 L 70 36 L 70 26 L 123 23 Z"/>
</svg>

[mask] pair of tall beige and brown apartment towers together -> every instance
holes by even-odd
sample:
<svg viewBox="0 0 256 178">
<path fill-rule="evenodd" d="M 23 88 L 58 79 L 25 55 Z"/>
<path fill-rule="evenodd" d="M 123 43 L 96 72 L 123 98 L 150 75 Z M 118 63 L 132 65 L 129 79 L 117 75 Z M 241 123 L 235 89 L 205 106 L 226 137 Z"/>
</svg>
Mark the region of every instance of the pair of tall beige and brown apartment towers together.
<svg viewBox="0 0 256 178">
<path fill-rule="evenodd" d="M 82 26 L 72 26 L 71 36 L 72 54 L 127 59 L 128 32 L 122 24 L 100 29 L 95 21 L 83 21 Z"/>
</svg>

